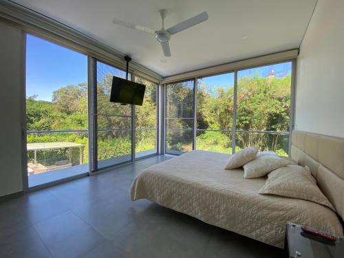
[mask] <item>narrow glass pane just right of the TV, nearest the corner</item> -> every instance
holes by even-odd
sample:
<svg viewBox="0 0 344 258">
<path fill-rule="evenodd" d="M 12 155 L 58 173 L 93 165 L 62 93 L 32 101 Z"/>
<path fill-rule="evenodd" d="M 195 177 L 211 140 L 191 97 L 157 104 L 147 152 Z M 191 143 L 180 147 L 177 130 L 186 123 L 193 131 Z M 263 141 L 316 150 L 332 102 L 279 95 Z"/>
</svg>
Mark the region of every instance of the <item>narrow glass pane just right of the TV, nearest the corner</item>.
<svg viewBox="0 0 344 258">
<path fill-rule="evenodd" d="M 142 106 L 135 108 L 135 122 L 136 122 L 136 142 L 135 151 L 136 158 L 144 157 L 145 155 L 154 154 L 157 152 L 157 91 L 158 85 L 151 83 L 149 80 L 135 77 L 136 83 L 146 85 L 144 92 L 144 100 Z"/>
</svg>

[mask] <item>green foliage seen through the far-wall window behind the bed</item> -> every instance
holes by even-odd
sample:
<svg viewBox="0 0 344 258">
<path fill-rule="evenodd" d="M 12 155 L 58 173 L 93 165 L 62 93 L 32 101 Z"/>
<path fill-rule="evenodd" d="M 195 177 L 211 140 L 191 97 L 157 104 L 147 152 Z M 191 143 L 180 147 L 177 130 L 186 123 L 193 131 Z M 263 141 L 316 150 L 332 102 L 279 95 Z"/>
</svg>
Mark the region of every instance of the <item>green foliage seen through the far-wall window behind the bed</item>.
<svg viewBox="0 0 344 258">
<path fill-rule="evenodd" d="M 237 88 L 236 129 L 244 131 L 289 131 L 291 76 L 285 78 L 243 77 Z M 167 88 L 167 115 L 192 117 L 193 91 L 177 83 Z M 181 89 L 183 88 L 183 89 Z M 207 87 L 199 80 L 197 87 L 197 129 L 231 129 L 233 127 L 233 87 Z M 170 103 L 171 102 L 171 103 Z M 171 111 L 169 111 L 171 109 Z M 192 110 L 191 110 L 192 109 Z M 185 112 L 189 110 L 189 113 Z M 189 131 L 169 132 L 169 128 L 192 128 L 193 120 L 167 122 L 167 147 L 185 151 L 192 138 Z M 231 138 L 222 132 L 197 131 L 197 149 L 230 153 Z M 283 133 L 237 132 L 236 149 L 256 146 L 259 150 L 288 153 L 288 136 Z"/>
</svg>

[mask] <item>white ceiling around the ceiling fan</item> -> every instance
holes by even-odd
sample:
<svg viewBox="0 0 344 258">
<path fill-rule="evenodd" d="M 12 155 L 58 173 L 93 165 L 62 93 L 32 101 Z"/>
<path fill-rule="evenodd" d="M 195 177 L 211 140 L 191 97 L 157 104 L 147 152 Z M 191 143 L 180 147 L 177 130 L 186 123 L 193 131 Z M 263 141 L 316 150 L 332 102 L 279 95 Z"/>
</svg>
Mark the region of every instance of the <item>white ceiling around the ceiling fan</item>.
<svg viewBox="0 0 344 258">
<path fill-rule="evenodd" d="M 14 0 L 65 23 L 162 76 L 299 47 L 316 0 Z M 122 28 L 114 17 L 158 30 L 195 14 L 208 21 L 174 34 L 164 57 L 153 34 Z M 244 36 L 244 39 L 243 39 Z M 247 39 L 245 39 L 247 37 Z M 166 61 L 165 63 L 163 63 Z"/>
</svg>

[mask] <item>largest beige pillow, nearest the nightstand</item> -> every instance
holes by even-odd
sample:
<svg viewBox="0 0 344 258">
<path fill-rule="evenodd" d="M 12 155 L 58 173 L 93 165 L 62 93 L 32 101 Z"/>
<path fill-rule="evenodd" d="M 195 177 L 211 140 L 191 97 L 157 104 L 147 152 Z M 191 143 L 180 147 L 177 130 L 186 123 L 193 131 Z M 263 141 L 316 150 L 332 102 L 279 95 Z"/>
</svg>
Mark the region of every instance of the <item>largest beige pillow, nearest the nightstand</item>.
<svg viewBox="0 0 344 258">
<path fill-rule="evenodd" d="M 259 193 L 308 200 L 335 211 L 316 185 L 316 180 L 308 167 L 289 165 L 272 171 Z"/>
</svg>

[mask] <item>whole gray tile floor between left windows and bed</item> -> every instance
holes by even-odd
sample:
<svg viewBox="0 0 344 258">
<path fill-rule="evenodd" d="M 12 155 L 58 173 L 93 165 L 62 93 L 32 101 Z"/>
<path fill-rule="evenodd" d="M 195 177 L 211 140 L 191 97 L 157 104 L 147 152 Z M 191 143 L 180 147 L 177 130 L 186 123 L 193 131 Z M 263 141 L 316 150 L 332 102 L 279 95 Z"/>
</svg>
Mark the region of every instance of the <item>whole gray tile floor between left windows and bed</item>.
<svg viewBox="0 0 344 258">
<path fill-rule="evenodd" d="M 129 186 L 155 156 L 0 203 L 0 257 L 283 257 L 147 200 Z"/>
</svg>

